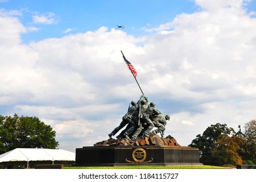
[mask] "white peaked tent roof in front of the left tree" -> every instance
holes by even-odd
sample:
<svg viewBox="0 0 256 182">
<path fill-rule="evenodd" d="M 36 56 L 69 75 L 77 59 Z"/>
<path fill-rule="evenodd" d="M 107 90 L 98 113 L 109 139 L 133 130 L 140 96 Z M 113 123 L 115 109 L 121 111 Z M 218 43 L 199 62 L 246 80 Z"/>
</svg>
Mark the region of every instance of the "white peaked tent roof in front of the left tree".
<svg viewBox="0 0 256 182">
<path fill-rule="evenodd" d="M 0 155 L 0 162 L 75 161 L 75 153 L 63 149 L 16 148 Z"/>
</svg>

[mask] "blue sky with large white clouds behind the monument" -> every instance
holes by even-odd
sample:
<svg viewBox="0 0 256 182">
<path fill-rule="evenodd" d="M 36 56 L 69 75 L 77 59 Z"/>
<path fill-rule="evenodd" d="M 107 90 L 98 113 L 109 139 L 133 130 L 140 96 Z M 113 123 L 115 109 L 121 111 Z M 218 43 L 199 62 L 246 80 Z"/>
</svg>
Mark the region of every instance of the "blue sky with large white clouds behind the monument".
<svg viewBox="0 0 256 182">
<path fill-rule="evenodd" d="M 60 149 L 106 140 L 141 96 L 122 50 L 182 146 L 217 122 L 238 131 L 256 119 L 255 11 L 255 0 L 0 0 L 0 114 L 39 117 Z"/>
</svg>

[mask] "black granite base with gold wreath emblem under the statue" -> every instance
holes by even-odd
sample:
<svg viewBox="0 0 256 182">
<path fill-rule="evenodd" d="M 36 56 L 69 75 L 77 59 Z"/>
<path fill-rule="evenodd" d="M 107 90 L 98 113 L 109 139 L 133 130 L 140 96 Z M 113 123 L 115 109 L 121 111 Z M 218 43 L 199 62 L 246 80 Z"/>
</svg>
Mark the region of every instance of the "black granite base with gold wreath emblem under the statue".
<svg viewBox="0 0 256 182">
<path fill-rule="evenodd" d="M 200 165 L 199 149 L 116 146 L 76 148 L 76 166 Z"/>
</svg>

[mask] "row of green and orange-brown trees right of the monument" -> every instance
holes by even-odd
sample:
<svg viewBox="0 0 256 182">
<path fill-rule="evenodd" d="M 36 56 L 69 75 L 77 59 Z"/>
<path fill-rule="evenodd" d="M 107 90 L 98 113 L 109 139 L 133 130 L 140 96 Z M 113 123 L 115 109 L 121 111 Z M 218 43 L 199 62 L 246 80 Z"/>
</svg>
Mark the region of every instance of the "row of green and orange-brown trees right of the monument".
<svg viewBox="0 0 256 182">
<path fill-rule="evenodd" d="M 244 133 L 241 129 L 235 132 L 225 123 L 216 123 L 197 135 L 189 146 L 199 148 L 204 165 L 256 164 L 256 120 L 246 123 L 244 129 Z"/>
</svg>

